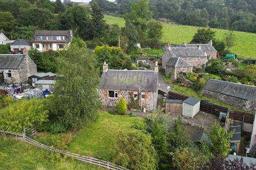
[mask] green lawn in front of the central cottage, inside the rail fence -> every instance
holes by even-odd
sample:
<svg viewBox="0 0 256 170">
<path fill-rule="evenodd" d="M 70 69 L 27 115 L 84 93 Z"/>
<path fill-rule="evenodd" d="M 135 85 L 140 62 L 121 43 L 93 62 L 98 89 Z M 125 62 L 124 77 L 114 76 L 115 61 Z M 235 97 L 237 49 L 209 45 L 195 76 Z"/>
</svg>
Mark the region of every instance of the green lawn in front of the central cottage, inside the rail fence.
<svg viewBox="0 0 256 170">
<path fill-rule="evenodd" d="M 131 129 L 134 124 L 142 126 L 142 118 L 101 112 L 96 123 L 86 125 L 76 134 L 69 143 L 68 150 L 106 160 L 108 152 L 115 146 L 119 131 Z"/>
</svg>

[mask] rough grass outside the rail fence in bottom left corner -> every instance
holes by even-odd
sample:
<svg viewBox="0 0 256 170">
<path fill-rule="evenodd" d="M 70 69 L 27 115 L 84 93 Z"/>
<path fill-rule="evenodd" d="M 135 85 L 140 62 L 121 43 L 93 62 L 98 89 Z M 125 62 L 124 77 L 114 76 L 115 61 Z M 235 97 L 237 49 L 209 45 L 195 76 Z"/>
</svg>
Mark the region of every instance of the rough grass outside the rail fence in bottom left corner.
<svg viewBox="0 0 256 170">
<path fill-rule="evenodd" d="M 26 142 L 11 137 L 0 138 L 0 169 L 103 169 L 69 158 L 59 161 L 52 156 Z"/>
</svg>

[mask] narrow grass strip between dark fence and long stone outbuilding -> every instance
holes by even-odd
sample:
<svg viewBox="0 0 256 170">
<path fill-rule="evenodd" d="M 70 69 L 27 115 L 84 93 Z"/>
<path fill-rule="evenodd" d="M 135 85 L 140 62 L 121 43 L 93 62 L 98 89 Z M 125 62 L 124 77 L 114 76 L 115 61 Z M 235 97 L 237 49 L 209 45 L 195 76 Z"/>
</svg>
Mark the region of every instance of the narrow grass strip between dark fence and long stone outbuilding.
<svg viewBox="0 0 256 170">
<path fill-rule="evenodd" d="M 239 108 L 234 107 L 234 106 L 230 106 L 226 103 L 223 103 L 220 100 L 215 100 L 213 98 L 205 97 L 200 92 L 197 92 L 194 89 L 191 89 L 189 87 L 182 87 L 182 86 L 176 85 L 176 86 L 172 87 L 172 90 L 174 92 L 177 92 L 178 94 L 181 94 L 181 95 L 185 95 L 185 96 L 189 96 L 189 97 L 196 97 L 196 98 L 199 98 L 201 100 L 208 100 L 208 101 L 210 101 L 211 103 L 213 103 L 215 105 L 219 105 L 219 106 L 227 107 L 227 108 L 230 108 L 230 109 L 234 109 L 235 111 L 245 112 L 242 109 L 239 109 Z"/>
</svg>

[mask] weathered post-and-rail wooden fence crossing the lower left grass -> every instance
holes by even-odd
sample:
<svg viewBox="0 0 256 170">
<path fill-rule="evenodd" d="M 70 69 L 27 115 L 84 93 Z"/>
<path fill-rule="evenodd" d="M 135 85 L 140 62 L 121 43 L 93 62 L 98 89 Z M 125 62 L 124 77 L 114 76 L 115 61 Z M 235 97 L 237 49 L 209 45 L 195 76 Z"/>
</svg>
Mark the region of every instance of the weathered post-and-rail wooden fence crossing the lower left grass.
<svg viewBox="0 0 256 170">
<path fill-rule="evenodd" d="M 74 153 L 71 153 L 71 152 L 68 152 L 68 151 L 48 147 L 48 146 L 44 145 L 43 143 L 40 143 L 38 141 L 35 141 L 35 140 L 27 137 L 26 135 L 24 135 L 24 133 L 19 134 L 19 133 L 13 133 L 13 132 L 8 132 L 8 131 L 1 131 L 1 130 L 0 130 L 0 132 L 1 133 L 7 133 L 7 134 L 13 134 L 17 138 L 23 139 L 27 143 L 30 143 L 31 145 L 34 145 L 38 148 L 42 148 L 42 149 L 47 150 L 47 151 L 52 151 L 52 152 L 55 152 L 55 153 L 59 153 L 61 155 L 66 155 L 68 157 L 74 157 L 76 160 L 79 160 L 79 161 L 84 162 L 84 163 L 89 163 L 89 164 L 97 165 L 97 166 L 108 168 L 108 169 L 126 170 L 126 168 L 124 168 L 124 167 L 109 163 L 109 162 L 104 161 L 104 160 L 100 160 L 100 159 L 92 158 L 92 157 L 87 157 L 87 156 L 83 156 L 83 155 L 78 155 L 78 154 L 74 154 Z"/>
</svg>

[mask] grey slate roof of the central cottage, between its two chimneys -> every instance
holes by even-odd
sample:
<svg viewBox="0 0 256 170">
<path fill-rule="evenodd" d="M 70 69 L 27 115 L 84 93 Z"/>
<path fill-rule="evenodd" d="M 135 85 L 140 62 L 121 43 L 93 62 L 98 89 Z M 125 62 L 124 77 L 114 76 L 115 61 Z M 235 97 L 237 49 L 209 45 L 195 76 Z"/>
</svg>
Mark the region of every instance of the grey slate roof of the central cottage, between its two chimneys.
<svg viewBox="0 0 256 170">
<path fill-rule="evenodd" d="M 108 70 L 102 73 L 101 89 L 157 91 L 154 71 Z"/>
</svg>

